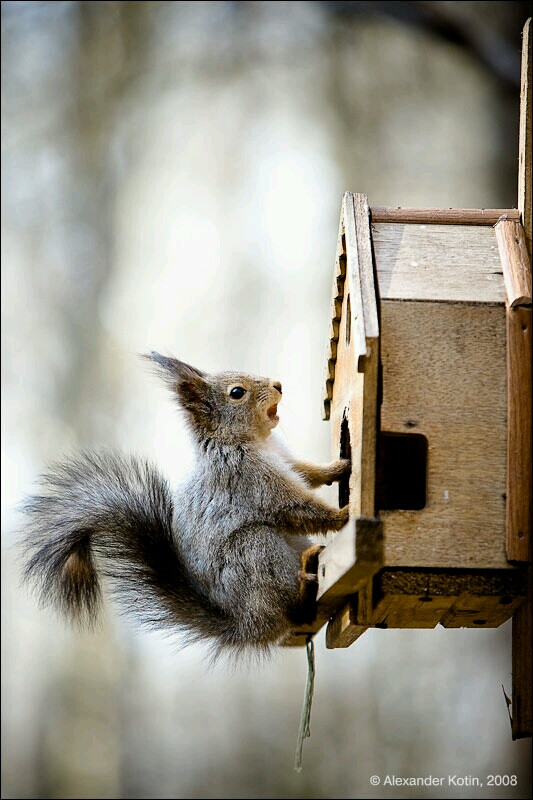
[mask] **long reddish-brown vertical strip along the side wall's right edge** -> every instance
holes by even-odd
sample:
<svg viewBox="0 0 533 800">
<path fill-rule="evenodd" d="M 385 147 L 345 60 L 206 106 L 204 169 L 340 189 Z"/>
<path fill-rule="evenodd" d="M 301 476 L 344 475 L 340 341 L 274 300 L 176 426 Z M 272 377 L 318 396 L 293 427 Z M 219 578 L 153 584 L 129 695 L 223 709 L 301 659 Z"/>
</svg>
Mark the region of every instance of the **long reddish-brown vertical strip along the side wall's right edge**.
<svg viewBox="0 0 533 800">
<path fill-rule="evenodd" d="M 507 513 L 510 561 L 533 561 L 531 308 L 507 310 Z"/>
</svg>

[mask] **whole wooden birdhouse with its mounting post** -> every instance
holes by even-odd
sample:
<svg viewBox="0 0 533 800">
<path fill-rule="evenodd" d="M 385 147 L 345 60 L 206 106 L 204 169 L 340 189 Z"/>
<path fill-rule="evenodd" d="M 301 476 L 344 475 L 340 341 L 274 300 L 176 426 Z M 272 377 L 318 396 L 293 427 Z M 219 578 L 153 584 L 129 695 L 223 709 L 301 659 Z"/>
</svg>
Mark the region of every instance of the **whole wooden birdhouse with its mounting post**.
<svg viewBox="0 0 533 800">
<path fill-rule="evenodd" d="M 320 554 L 313 627 L 328 622 L 333 648 L 369 627 L 514 616 L 515 737 L 532 727 L 526 129 L 519 210 L 371 208 L 344 195 L 324 417 L 333 457 L 352 462 L 339 486 L 350 522 Z"/>
</svg>

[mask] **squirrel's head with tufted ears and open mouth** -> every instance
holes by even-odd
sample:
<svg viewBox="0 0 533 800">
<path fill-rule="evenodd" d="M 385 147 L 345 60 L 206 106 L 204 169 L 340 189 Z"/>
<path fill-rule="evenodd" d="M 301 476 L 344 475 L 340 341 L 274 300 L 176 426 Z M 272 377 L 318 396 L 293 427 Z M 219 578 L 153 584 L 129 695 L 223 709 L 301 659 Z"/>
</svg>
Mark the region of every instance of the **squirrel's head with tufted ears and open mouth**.
<svg viewBox="0 0 533 800">
<path fill-rule="evenodd" d="M 170 386 L 200 438 L 227 443 L 264 439 L 279 422 L 281 383 L 239 372 L 208 375 L 190 364 L 152 352 L 158 372 Z"/>
</svg>

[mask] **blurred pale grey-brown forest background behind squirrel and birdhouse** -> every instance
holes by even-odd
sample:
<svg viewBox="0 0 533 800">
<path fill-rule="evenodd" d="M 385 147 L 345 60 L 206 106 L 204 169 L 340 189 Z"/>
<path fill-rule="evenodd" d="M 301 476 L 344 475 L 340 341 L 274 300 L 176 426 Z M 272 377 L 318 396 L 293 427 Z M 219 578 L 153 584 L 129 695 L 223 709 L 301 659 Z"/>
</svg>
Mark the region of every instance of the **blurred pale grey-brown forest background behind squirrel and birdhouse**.
<svg viewBox="0 0 533 800">
<path fill-rule="evenodd" d="M 190 444 L 137 353 L 283 382 L 326 461 L 323 355 L 342 193 L 513 207 L 523 2 L 2 3 L 2 797 L 530 797 L 510 623 L 317 637 L 210 668 L 112 610 L 69 630 L 19 585 L 16 506 L 81 447 Z M 327 496 L 326 494 L 324 496 Z M 516 775 L 407 788 L 371 775 Z"/>
</svg>

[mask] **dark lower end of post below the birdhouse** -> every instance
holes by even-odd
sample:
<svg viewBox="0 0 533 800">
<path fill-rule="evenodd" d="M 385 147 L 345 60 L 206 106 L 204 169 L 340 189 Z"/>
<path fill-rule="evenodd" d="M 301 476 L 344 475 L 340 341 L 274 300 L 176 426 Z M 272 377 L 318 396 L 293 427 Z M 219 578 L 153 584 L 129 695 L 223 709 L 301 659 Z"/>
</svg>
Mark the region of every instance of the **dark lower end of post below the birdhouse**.
<svg viewBox="0 0 533 800">
<path fill-rule="evenodd" d="M 513 614 L 513 739 L 533 736 L 533 569 L 527 569 L 527 597 Z"/>
</svg>

